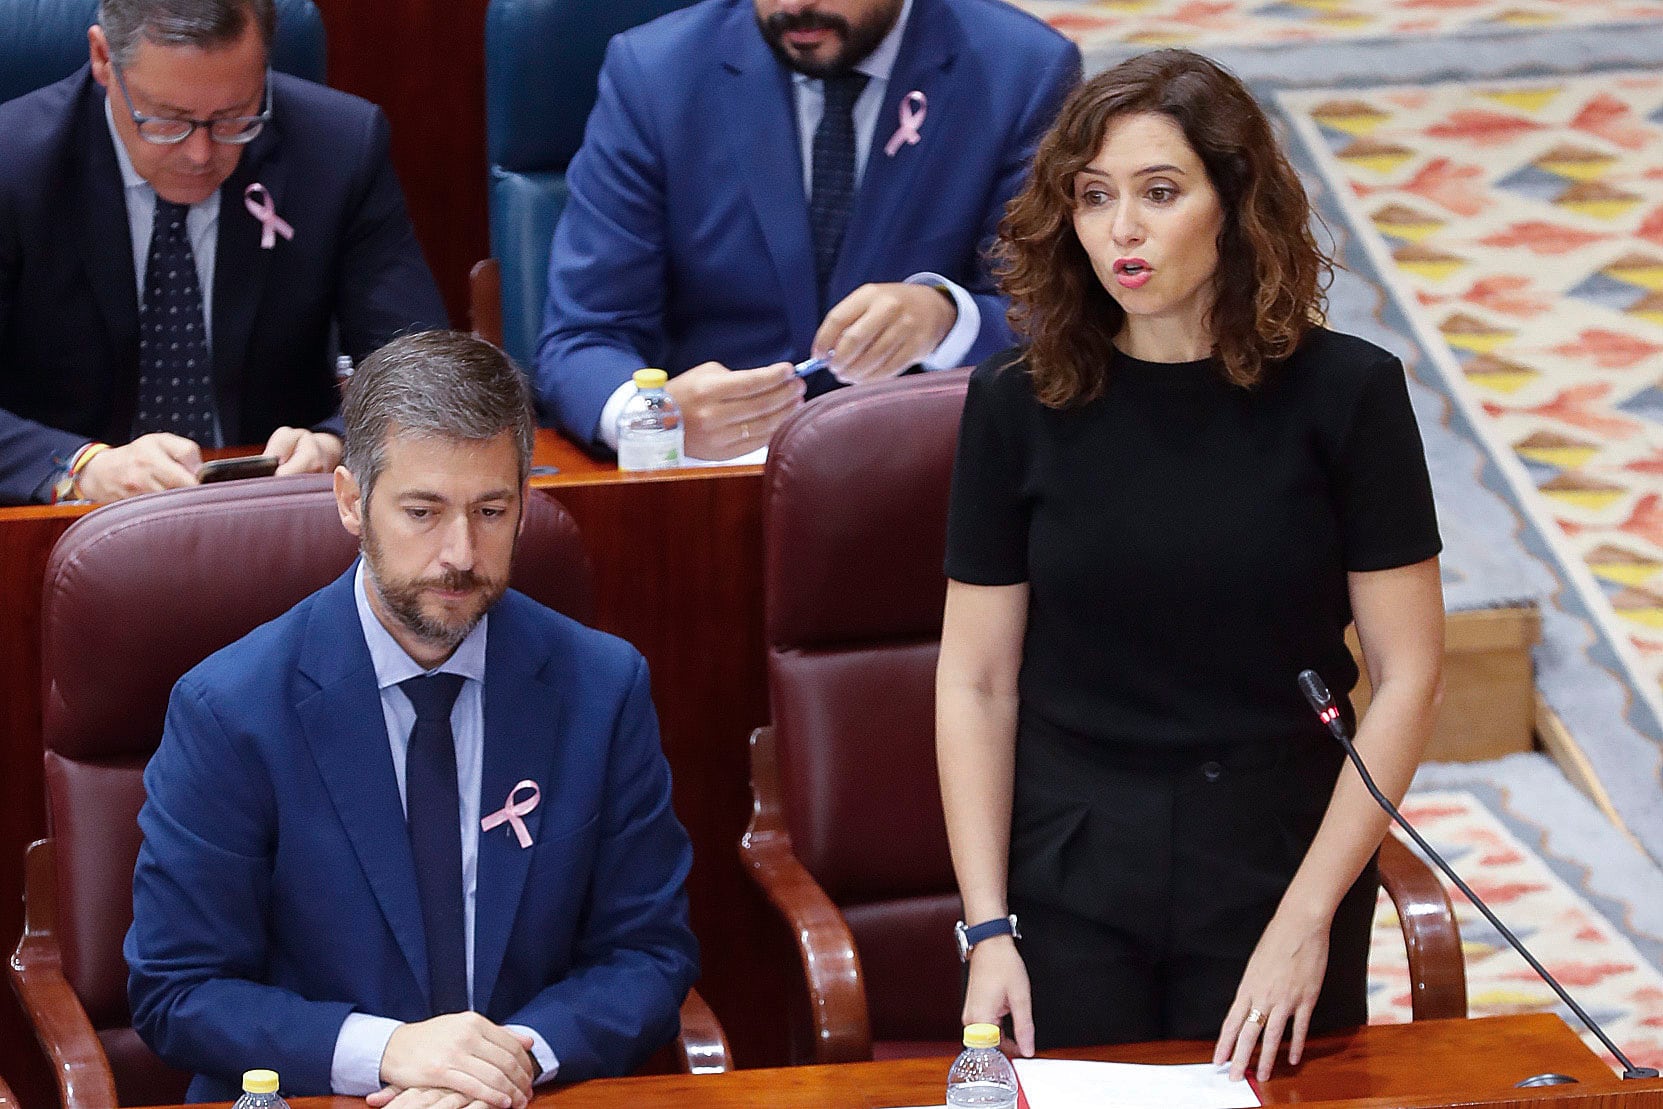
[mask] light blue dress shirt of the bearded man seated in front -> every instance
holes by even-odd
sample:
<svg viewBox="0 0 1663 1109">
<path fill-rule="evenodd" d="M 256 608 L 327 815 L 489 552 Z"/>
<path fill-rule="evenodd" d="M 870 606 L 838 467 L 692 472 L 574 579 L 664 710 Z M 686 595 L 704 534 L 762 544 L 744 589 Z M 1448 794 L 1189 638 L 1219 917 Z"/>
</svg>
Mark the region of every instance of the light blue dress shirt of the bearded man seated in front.
<svg viewBox="0 0 1663 1109">
<path fill-rule="evenodd" d="M 474 1001 L 474 896 L 479 890 L 479 790 L 486 762 L 486 625 L 489 617 L 467 633 L 456 652 L 424 670 L 411 658 L 392 633 L 369 607 L 364 594 L 364 562 L 359 560 L 353 577 L 353 595 L 358 600 L 358 622 L 364 628 L 369 662 L 376 668 L 376 687 L 381 690 L 381 715 L 387 725 L 387 745 L 392 752 L 392 775 L 397 778 L 399 803 L 404 803 L 404 760 L 409 750 L 411 728 L 416 727 L 416 708 L 399 688 L 399 682 L 422 673 L 456 673 L 466 678 L 462 692 L 451 708 L 451 735 L 456 738 L 456 783 L 461 791 L 462 818 L 462 936 L 467 948 L 467 999 Z M 407 816 L 407 813 L 406 813 Z M 381 1089 L 381 1056 L 387 1041 L 397 1031 L 399 1021 L 369 1013 L 349 1013 L 341 1023 L 334 1041 L 334 1059 L 329 1067 L 329 1086 L 336 1094 L 364 1097 Z M 511 1031 L 532 1038 L 532 1056 L 545 1082 L 560 1069 L 554 1049 L 534 1028 L 507 1024 Z"/>
</svg>

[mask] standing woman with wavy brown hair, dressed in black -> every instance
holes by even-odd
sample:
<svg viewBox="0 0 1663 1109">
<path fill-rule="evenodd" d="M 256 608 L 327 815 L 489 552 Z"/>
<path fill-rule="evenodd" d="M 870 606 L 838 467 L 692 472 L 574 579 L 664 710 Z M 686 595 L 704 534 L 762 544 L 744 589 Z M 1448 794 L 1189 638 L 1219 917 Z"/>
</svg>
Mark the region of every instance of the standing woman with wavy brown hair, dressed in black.
<svg viewBox="0 0 1663 1109">
<path fill-rule="evenodd" d="M 1440 542 L 1404 367 L 1317 323 L 1309 218 L 1247 90 L 1162 50 L 1074 91 L 1001 226 L 1026 347 L 970 379 L 936 752 L 963 1018 L 1024 1054 L 1216 1039 L 1239 1077 L 1262 1041 L 1264 1079 L 1367 1021 L 1387 818 L 1295 680 L 1355 685 L 1355 619 L 1357 750 L 1402 798 Z"/>
</svg>

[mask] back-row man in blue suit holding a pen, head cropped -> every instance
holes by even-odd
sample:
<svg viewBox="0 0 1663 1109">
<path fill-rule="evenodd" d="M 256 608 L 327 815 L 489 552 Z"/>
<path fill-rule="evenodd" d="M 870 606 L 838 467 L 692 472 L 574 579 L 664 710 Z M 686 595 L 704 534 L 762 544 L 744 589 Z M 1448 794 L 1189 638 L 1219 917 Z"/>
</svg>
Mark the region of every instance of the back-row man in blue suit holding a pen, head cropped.
<svg viewBox="0 0 1663 1109">
<path fill-rule="evenodd" d="M 567 173 L 544 414 L 617 447 L 670 372 L 687 452 L 763 446 L 807 394 L 1011 344 L 981 249 L 1079 52 L 999 0 L 703 0 L 612 40 Z M 835 381 L 833 381 L 835 377 Z"/>
</svg>

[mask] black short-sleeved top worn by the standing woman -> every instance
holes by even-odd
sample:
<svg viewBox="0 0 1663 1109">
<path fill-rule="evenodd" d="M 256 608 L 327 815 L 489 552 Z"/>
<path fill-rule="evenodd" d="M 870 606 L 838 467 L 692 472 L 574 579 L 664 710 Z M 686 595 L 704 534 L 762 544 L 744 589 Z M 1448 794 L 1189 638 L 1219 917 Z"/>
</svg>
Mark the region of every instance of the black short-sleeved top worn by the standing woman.
<svg viewBox="0 0 1663 1109">
<path fill-rule="evenodd" d="M 1347 572 L 1440 547 L 1404 367 L 1364 339 L 1315 329 L 1254 389 L 1116 354 L 1104 394 L 1064 411 L 1016 351 L 970 377 L 946 574 L 1029 584 L 1024 733 L 1320 735 L 1297 677 L 1357 682 Z"/>
</svg>

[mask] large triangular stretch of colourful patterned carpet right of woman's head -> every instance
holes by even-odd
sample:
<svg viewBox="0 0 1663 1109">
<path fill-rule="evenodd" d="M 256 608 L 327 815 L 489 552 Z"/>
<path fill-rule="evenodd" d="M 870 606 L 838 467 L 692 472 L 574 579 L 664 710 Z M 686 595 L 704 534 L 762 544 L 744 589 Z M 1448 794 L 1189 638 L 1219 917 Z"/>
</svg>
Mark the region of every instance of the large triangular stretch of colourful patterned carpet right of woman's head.
<svg viewBox="0 0 1663 1109">
<path fill-rule="evenodd" d="M 1663 80 L 1277 103 L 1354 264 L 1402 316 L 1442 422 L 1477 444 L 1480 482 L 1513 509 L 1487 534 L 1510 532 L 1535 565 L 1538 688 L 1663 860 Z M 1463 482 L 1435 482 L 1458 530 L 1447 499 Z"/>
</svg>

